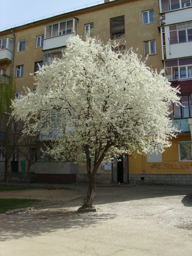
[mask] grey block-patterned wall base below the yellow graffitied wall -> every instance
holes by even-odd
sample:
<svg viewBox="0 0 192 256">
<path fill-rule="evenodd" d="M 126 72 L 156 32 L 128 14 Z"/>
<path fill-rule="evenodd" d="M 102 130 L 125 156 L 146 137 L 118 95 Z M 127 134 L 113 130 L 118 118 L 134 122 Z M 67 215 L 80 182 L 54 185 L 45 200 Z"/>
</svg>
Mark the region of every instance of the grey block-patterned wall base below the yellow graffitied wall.
<svg viewBox="0 0 192 256">
<path fill-rule="evenodd" d="M 192 174 L 130 174 L 129 183 L 192 185 Z"/>
</svg>

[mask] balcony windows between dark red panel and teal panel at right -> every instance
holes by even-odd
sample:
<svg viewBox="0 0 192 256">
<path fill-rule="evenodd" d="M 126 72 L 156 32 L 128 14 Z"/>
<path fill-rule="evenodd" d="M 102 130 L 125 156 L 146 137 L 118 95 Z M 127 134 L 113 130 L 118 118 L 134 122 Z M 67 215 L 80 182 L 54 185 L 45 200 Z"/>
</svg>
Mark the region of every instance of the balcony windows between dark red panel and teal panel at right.
<svg viewBox="0 0 192 256">
<path fill-rule="evenodd" d="M 180 102 L 182 106 L 172 104 L 171 110 L 172 115 L 171 118 L 189 118 L 192 117 L 192 104 L 191 104 L 191 94 L 190 95 L 182 95 L 180 98 Z"/>
</svg>

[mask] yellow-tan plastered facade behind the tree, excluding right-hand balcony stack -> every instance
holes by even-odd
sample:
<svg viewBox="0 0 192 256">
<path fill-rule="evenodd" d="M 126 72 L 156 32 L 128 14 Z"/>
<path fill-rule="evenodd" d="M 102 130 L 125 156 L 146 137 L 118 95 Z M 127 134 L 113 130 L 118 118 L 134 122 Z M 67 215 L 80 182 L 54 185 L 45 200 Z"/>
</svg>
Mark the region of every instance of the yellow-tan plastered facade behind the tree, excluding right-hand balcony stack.
<svg viewBox="0 0 192 256">
<path fill-rule="evenodd" d="M 21 93 L 24 94 L 23 86 L 35 90 L 34 75 L 30 74 L 38 70 L 37 63 L 49 65 L 53 58 L 60 58 L 67 38 L 75 36 L 75 33 L 83 40 L 86 34 L 90 33 L 90 36 L 99 36 L 103 41 L 111 40 L 111 42 L 125 44 L 126 49 L 132 47 L 137 51 L 138 56 L 143 56 L 142 60 L 145 60 L 148 55 L 146 65 L 159 72 L 164 68 L 165 61 L 164 58 L 162 60 L 165 51 L 164 24 L 161 24 L 164 12 L 159 7 L 161 7 L 161 1 L 159 3 L 157 0 L 106 0 L 104 4 L 1 31 L 1 76 L 6 74 L 15 80 L 18 98 Z M 191 10 L 190 7 L 191 5 L 188 10 Z M 113 25 L 116 21 L 119 27 Z M 188 103 L 190 105 L 189 97 Z M 188 117 L 190 118 L 190 114 Z M 192 184 L 192 161 L 185 160 L 183 155 L 180 156 L 182 148 L 186 145 L 189 147 L 191 143 L 188 118 L 185 121 L 187 124 L 183 123 L 183 120 L 177 120 L 177 124 L 184 130 L 177 138 L 172 139 L 172 146 L 161 156 L 159 154 L 157 154 L 158 157 L 157 155 L 125 156 L 122 164 L 120 164 L 121 161 L 114 161 L 113 164 L 103 165 L 97 173 L 98 182 L 179 184 L 180 181 L 185 180 L 185 184 Z M 186 144 L 184 144 L 185 141 Z M 3 148 L 3 141 L 0 143 Z M 87 171 L 84 166 L 73 163 L 60 165 L 51 162 L 46 156 L 40 157 L 38 161 L 34 159 L 35 163 L 30 169 L 31 181 L 74 183 L 87 180 Z M 3 172 L 3 157 L 0 160 L 0 168 Z M 12 172 L 10 168 L 9 177 L 12 180 L 22 179 L 20 167 L 22 157 L 18 156 L 13 160 L 18 161 L 18 172 Z"/>
</svg>

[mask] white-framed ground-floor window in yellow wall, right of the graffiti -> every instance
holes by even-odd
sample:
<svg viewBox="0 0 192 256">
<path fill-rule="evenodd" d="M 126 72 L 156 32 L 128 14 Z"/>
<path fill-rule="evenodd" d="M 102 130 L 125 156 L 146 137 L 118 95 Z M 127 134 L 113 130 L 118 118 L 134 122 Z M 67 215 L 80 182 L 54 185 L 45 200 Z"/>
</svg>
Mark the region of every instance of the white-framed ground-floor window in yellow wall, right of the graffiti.
<svg viewBox="0 0 192 256">
<path fill-rule="evenodd" d="M 179 145 L 179 161 L 180 162 L 192 161 L 191 141 L 180 141 L 178 145 Z"/>
</svg>

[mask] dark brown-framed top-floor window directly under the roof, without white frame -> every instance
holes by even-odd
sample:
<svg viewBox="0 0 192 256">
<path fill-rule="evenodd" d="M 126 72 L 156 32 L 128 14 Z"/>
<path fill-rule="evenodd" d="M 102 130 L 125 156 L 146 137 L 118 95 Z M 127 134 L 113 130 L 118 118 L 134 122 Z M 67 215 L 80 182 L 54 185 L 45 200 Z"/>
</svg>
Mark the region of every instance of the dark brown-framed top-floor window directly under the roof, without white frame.
<svg viewBox="0 0 192 256">
<path fill-rule="evenodd" d="M 111 39 L 121 38 L 125 36 L 124 16 L 110 19 Z"/>
</svg>

